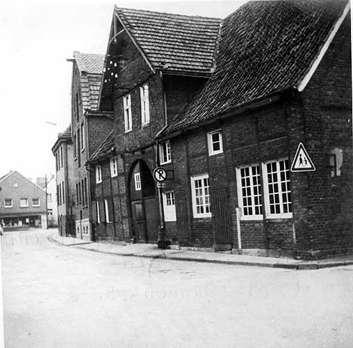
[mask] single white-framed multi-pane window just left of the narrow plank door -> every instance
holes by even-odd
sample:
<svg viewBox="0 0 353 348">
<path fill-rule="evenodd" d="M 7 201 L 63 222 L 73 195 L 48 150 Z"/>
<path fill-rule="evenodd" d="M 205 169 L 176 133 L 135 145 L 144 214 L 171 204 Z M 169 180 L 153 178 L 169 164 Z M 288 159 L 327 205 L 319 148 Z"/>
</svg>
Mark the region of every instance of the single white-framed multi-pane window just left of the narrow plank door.
<svg viewBox="0 0 353 348">
<path fill-rule="evenodd" d="M 208 174 L 191 177 L 192 212 L 195 218 L 211 217 Z"/>
</svg>

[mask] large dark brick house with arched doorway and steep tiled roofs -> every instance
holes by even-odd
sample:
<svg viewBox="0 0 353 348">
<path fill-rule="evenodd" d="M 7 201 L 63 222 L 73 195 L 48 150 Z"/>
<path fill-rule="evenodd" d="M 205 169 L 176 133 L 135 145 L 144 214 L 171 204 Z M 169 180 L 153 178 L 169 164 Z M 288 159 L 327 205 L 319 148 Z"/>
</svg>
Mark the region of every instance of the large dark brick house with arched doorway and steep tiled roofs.
<svg viewBox="0 0 353 348">
<path fill-rule="evenodd" d="M 348 1 L 251 1 L 224 20 L 115 8 L 108 42 L 92 237 L 156 242 L 161 208 L 179 246 L 352 252 Z M 300 143 L 315 171 L 290 171 Z"/>
</svg>

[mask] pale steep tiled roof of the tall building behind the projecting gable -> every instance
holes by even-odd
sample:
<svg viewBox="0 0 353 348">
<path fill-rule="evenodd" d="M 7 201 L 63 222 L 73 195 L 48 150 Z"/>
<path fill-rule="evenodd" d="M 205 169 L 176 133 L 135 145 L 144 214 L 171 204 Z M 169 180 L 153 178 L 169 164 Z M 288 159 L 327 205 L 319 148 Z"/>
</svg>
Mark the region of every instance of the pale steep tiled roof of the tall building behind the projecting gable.
<svg viewBox="0 0 353 348">
<path fill-rule="evenodd" d="M 74 58 L 81 73 L 83 109 L 97 110 L 105 56 L 74 52 Z"/>
</svg>

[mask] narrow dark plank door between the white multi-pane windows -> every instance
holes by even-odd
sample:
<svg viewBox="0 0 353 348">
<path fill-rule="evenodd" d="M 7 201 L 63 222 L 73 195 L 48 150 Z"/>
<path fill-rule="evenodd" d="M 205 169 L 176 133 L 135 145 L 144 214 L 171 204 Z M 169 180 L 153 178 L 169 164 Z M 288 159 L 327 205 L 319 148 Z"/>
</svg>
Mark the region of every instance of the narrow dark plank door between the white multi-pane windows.
<svg viewBox="0 0 353 348">
<path fill-rule="evenodd" d="M 233 244 L 227 187 L 211 190 L 211 210 L 215 250 L 231 250 Z"/>
</svg>

